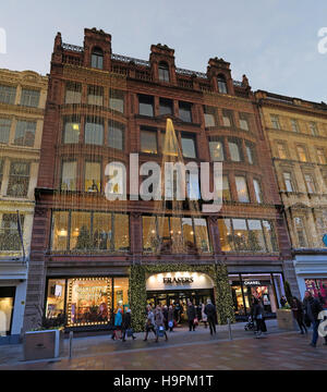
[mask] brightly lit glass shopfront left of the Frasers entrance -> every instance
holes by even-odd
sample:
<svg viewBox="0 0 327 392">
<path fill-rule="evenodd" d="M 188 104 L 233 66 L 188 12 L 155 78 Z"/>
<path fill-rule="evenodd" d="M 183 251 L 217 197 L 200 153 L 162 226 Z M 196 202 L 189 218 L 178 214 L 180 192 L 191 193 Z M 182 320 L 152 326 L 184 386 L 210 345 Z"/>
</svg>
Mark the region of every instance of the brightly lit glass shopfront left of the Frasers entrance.
<svg viewBox="0 0 327 392">
<path fill-rule="evenodd" d="M 129 278 L 49 279 L 46 318 L 53 326 L 101 327 L 129 307 Z"/>
</svg>

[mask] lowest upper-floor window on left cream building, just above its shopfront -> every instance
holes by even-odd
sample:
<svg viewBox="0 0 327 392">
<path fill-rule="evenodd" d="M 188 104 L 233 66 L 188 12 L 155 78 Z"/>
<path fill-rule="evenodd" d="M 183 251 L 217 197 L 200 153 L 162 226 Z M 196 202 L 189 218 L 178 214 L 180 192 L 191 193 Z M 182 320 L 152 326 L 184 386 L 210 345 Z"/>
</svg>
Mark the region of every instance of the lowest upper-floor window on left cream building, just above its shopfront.
<svg viewBox="0 0 327 392">
<path fill-rule="evenodd" d="M 24 216 L 21 215 L 20 220 L 23 230 Z M 0 226 L 0 250 L 21 250 L 21 247 L 17 215 L 3 213 Z"/>
</svg>

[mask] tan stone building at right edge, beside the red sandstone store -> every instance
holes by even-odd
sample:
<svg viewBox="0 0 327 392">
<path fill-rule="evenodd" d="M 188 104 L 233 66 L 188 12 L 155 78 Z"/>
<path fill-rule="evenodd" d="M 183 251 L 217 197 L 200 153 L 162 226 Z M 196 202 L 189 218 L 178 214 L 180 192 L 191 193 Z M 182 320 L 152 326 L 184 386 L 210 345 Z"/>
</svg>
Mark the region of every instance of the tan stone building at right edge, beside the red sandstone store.
<svg viewBox="0 0 327 392">
<path fill-rule="evenodd" d="M 257 91 L 301 292 L 327 307 L 327 105 Z M 324 240 L 324 236 L 326 236 Z"/>
</svg>

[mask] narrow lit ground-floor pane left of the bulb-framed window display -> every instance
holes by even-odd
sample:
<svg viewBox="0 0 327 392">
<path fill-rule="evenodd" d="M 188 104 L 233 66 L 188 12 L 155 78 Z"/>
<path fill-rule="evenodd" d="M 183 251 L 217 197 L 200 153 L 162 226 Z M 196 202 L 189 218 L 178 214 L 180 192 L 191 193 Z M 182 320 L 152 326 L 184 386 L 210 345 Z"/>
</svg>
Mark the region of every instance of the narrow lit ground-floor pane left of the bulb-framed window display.
<svg viewBox="0 0 327 392">
<path fill-rule="evenodd" d="M 65 280 L 50 279 L 48 281 L 48 295 L 47 295 L 47 319 L 56 319 L 61 324 L 64 318 L 64 293 Z"/>
</svg>

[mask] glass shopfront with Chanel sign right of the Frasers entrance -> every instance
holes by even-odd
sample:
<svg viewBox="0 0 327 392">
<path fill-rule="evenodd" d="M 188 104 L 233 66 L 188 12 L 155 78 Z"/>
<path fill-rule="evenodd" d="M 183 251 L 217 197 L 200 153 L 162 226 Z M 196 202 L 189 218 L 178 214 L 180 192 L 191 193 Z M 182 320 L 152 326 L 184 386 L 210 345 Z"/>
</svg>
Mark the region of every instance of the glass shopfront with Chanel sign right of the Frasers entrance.
<svg viewBox="0 0 327 392">
<path fill-rule="evenodd" d="M 279 298 L 283 295 L 280 273 L 230 274 L 237 320 L 246 320 L 251 315 L 253 297 L 263 302 L 266 317 L 275 317 Z"/>
</svg>

